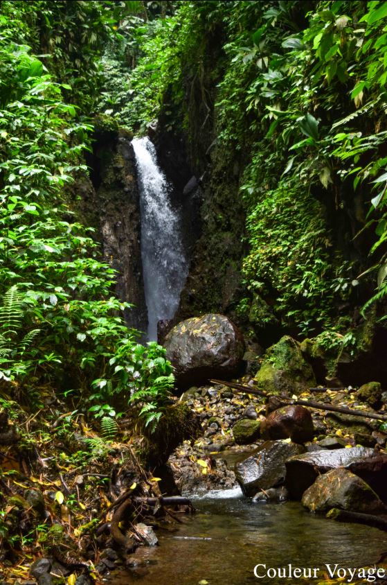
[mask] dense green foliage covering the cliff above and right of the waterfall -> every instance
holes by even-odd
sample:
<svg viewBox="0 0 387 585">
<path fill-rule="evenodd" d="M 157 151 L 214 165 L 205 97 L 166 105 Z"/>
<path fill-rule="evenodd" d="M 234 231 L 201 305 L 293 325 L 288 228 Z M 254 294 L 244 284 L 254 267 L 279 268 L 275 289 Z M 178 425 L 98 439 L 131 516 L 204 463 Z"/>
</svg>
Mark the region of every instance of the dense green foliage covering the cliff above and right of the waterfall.
<svg viewBox="0 0 387 585">
<path fill-rule="evenodd" d="M 102 110 L 134 130 L 160 114 L 167 130 L 183 125 L 194 166 L 213 139 L 243 153 L 240 315 L 269 302 L 300 333 L 345 331 L 354 306 L 387 292 L 385 4 L 175 8 L 139 30 L 129 58 L 107 52 Z"/>
</svg>

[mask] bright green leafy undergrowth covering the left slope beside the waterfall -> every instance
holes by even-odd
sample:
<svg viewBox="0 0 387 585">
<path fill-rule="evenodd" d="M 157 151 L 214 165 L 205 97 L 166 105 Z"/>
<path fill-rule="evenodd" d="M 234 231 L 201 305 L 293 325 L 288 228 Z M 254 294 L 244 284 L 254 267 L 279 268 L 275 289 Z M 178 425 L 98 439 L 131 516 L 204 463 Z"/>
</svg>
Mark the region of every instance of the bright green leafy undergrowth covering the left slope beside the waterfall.
<svg viewBox="0 0 387 585">
<path fill-rule="evenodd" d="M 87 171 L 100 55 L 136 8 L 0 3 L 0 369 L 21 402 L 42 405 L 48 385 L 73 408 L 114 417 L 146 398 L 142 416 L 156 424 L 171 367 L 127 329 L 115 272 L 67 196 Z"/>
</svg>

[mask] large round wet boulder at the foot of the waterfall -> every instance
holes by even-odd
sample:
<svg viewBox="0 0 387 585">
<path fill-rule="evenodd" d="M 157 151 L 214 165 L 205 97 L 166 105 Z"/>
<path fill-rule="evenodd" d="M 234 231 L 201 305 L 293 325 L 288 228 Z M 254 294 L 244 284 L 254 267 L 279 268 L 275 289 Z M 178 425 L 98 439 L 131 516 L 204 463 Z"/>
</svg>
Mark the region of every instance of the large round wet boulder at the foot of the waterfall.
<svg viewBox="0 0 387 585">
<path fill-rule="evenodd" d="M 237 327 L 228 317 L 213 313 L 174 326 L 164 347 L 180 385 L 233 376 L 244 354 L 244 341 Z"/>
</svg>

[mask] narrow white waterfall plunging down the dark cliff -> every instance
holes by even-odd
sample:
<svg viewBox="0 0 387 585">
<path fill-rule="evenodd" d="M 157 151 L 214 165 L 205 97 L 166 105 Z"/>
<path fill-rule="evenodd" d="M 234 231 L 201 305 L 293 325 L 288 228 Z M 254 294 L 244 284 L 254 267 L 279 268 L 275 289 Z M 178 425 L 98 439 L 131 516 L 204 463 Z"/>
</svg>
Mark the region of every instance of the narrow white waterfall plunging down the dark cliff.
<svg viewBox="0 0 387 585">
<path fill-rule="evenodd" d="M 170 185 L 159 168 L 156 149 L 148 138 L 132 141 L 138 170 L 141 211 L 141 259 L 150 340 L 157 339 L 157 322 L 177 311 L 188 265 L 179 210 L 172 207 Z"/>
</svg>

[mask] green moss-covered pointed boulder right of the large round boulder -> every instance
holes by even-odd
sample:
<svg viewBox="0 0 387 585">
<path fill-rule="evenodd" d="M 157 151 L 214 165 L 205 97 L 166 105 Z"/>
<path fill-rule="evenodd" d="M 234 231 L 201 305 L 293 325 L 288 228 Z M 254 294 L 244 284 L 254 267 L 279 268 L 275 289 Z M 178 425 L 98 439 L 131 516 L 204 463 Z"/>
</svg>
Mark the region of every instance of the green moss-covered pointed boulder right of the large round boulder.
<svg viewBox="0 0 387 585">
<path fill-rule="evenodd" d="M 297 393 L 316 385 L 312 367 L 305 361 L 300 344 L 289 335 L 269 347 L 255 380 L 270 394 Z"/>
</svg>

